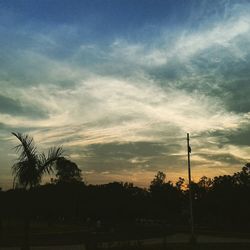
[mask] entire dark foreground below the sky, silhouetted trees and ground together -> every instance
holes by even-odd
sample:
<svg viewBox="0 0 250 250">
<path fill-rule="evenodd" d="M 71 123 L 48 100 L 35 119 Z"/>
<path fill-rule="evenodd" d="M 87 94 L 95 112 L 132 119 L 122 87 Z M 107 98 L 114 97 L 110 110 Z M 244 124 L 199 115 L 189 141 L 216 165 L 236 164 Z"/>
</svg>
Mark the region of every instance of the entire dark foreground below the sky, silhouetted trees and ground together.
<svg viewBox="0 0 250 250">
<path fill-rule="evenodd" d="M 38 153 L 29 136 L 13 165 L 14 189 L 0 190 L 2 247 L 70 249 L 250 249 L 250 164 L 188 186 L 158 172 L 149 188 L 86 185 L 61 148 Z M 41 184 L 44 173 L 51 183 Z M 196 242 L 190 241 L 191 187 Z M 53 247 L 52 247 L 53 248 Z M 61 247 L 63 249 L 63 247 Z"/>
</svg>

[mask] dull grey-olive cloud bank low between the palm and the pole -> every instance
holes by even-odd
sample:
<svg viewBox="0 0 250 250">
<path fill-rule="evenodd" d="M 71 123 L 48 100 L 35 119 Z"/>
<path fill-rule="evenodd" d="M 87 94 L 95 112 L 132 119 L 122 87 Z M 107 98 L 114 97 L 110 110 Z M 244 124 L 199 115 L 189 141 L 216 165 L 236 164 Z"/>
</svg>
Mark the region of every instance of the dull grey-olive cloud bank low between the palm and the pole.
<svg viewBox="0 0 250 250">
<path fill-rule="evenodd" d="M 98 175 L 108 173 L 105 180 L 112 181 L 113 175 L 120 176 L 120 180 L 124 180 L 125 176 L 122 175 L 125 174 L 130 180 L 131 176 L 137 176 L 136 182 L 138 182 L 142 173 L 147 175 L 147 178 L 152 178 L 159 170 L 167 172 L 170 176 L 173 169 L 175 173 L 180 173 L 183 155 L 179 156 L 179 160 L 172 155 L 178 154 L 180 150 L 178 144 L 113 142 L 73 148 L 70 157 L 78 162 L 88 178 L 95 181 L 100 177 Z"/>
</svg>

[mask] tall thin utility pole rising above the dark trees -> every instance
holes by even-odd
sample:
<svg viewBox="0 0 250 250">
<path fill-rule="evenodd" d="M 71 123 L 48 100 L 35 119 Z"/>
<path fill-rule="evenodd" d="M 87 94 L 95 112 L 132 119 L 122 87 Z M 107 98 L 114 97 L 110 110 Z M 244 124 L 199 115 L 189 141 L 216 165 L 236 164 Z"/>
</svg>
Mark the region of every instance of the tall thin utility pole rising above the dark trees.
<svg viewBox="0 0 250 250">
<path fill-rule="evenodd" d="M 191 233 L 190 243 L 195 243 L 193 195 L 192 195 L 192 185 L 191 185 L 191 164 L 190 164 L 191 147 L 189 145 L 189 133 L 187 133 L 187 153 L 188 153 L 188 184 L 189 184 L 189 210 L 190 210 L 190 233 Z"/>
</svg>

